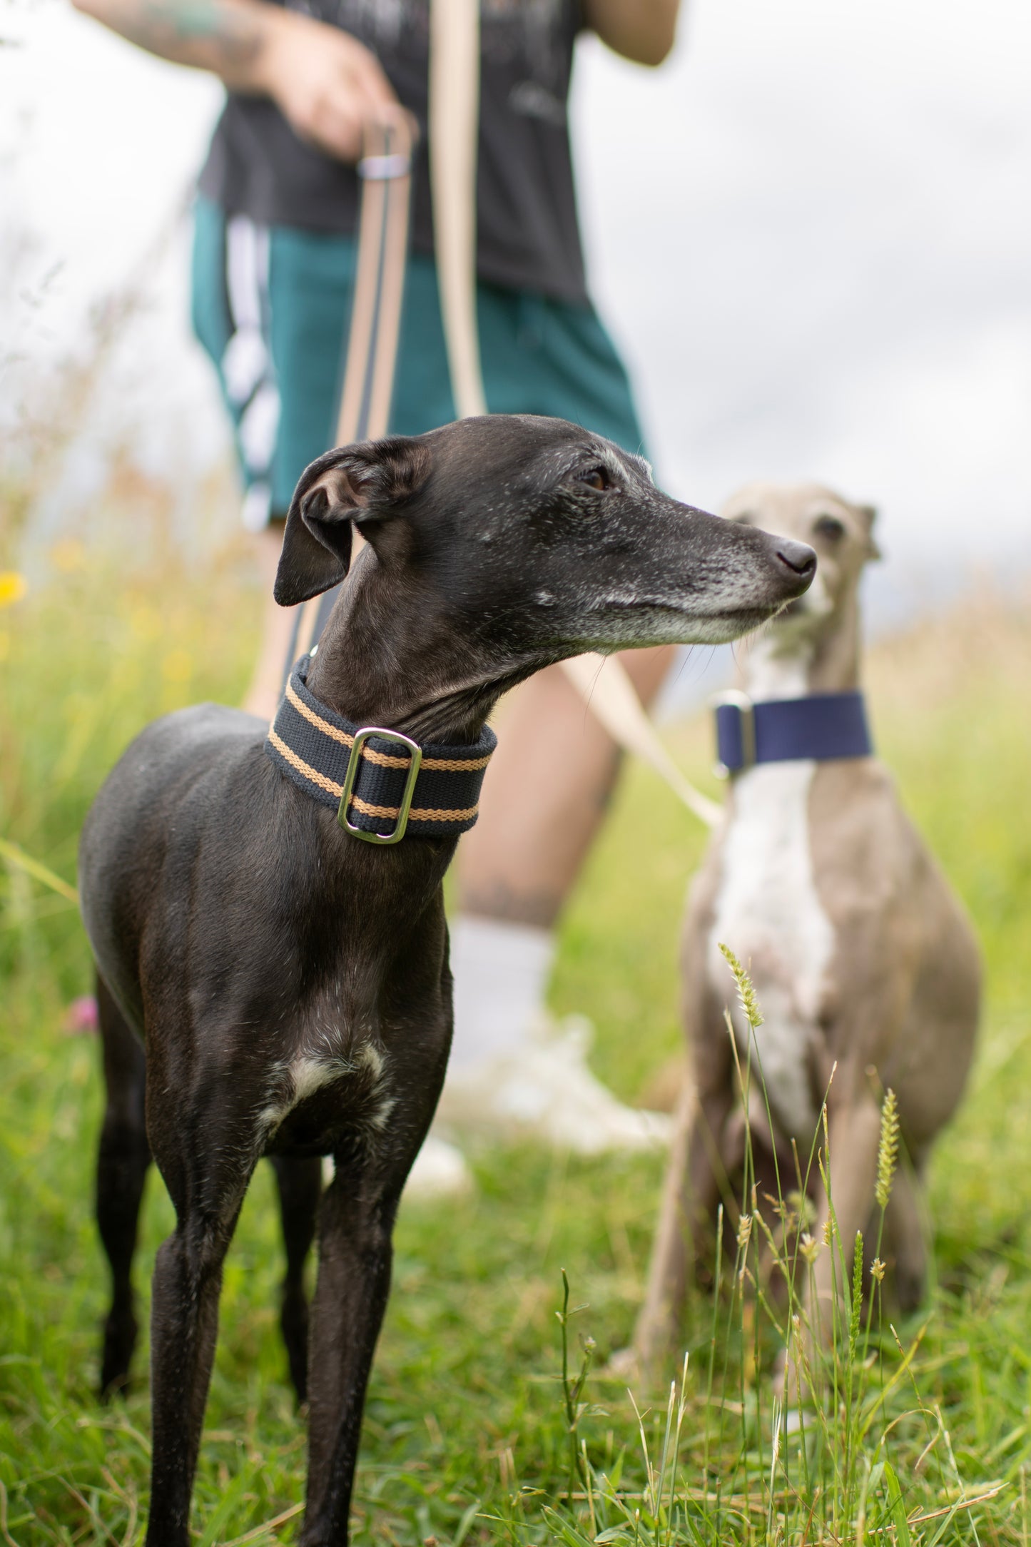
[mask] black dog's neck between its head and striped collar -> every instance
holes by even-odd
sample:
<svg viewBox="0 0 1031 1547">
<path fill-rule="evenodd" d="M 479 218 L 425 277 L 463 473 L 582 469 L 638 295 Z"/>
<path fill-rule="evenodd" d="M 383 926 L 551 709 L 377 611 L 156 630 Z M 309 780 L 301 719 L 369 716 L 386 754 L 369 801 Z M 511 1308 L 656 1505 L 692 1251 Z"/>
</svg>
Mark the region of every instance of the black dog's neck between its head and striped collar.
<svg viewBox="0 0 1031 1547">
<path fill-rule="evenodd" d="M 308 685 L 354 724 L 461 744 L 475 743 L 498 698 L 536 668 L 478 661 L 467 640 L 388 596 L 369 554 L 326 623 Z"/>
</svg>

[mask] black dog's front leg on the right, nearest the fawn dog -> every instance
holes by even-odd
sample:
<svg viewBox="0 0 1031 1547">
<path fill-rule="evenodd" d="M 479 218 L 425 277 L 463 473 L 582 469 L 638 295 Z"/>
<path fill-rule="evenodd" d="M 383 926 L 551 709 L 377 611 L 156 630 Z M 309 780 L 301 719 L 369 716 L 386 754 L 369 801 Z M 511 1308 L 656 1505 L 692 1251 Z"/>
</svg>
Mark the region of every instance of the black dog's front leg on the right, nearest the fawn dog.
<svg viewBox="0 0 1031 1547">
<path fill-rule="evenodd" d="M 386 1309 L 403 1187 L 337 1166 L 318 1214 L 308 1363 L 308 1504 L 298 1547 L 345 1547 L 365 1388 Z"/>
</svg>

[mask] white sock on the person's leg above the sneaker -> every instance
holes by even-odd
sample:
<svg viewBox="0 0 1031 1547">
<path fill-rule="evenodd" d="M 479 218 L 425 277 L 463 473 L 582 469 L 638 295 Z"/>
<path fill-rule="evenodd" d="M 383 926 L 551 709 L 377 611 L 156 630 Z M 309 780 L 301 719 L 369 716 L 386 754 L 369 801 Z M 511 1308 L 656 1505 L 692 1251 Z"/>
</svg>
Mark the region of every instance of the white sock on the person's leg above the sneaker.
<svg viewBox="0 0 1031 1547">
<path fill-rule="evenodd" d="M 518 1052 L 544 1009 L 553 961 L 550 930 L 459 914 L 451 924 L 451 1069 Z"/>
</svg>

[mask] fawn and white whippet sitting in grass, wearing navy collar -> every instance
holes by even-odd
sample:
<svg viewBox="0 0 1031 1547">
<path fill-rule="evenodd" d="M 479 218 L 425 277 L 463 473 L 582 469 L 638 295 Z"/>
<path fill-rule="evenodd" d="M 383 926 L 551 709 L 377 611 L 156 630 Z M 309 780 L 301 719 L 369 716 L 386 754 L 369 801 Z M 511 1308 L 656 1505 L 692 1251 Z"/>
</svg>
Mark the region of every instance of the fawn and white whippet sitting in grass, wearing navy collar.
<svg viewBox="0 0 1031 1547">
<path fill-rule="evenodd" d="M 743 1163 L 745 1114 L 725 1024 L 734 995 L 720 942 L 750 972 L 765 1016 L 753 1043 L 748 1114 L 759 1202 L 774 1191 L 773 1151 L 784 1193 L 795 1190 L 791 1142 L 805 1170 L 827 1097 L 830 1191 L 849 1267 L 856 1231 L 870 1244 L 880 1098 L 895 1091 L 907 1163 L 893 1180 L 886 1245 L 903 1307 L 924 1286 L 920 1176 L 963 1092 L 978 1015 L 972 928 L 870 755 L 858 692 L 858 585 L 875 554 L 875 512 L 815 484 L 751 484 L 722 514 L 736 528 L 810 543 L 819 563 L 807 594 L 743 648 L 743 693 L 717 710 L 733 775 L 683 933 L 692 1080 L 677 1111 L 646 1299 L 628 1351 L 646 1368 L 675 1335 L 688 1279 L 705 1272 L 717 1207 L 733 1197 Z M 739 1006 L 731 1019 L 743 1063 L 750 1029 Z M 819 1255 L 801 1351 L 812 1354 L 830 1334 L 835 1295 L 816 1165 L 810 1191 Z"/>
</svg>

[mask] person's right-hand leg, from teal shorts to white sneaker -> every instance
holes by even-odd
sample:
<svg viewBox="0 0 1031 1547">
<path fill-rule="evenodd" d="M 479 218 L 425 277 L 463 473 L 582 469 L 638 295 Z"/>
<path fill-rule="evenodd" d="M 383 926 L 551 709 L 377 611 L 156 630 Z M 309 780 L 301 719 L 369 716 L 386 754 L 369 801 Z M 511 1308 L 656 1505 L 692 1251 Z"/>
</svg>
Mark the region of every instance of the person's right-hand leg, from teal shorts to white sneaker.
<svg viewBox="0 0 1031 1547">
<path fill-rule="evenodd" d="M 592 311 L 481 286 L 479 322 L 492 412 L 573 419 L 641 450 L 626 373 Z M 671 656 L 620 656 L 645 704 Z M 658 1132 L 657 1122 L 598 1086 L 580 1027 L 539 1036 L 553 927 L 618 767 L 615 743 L 560 667 L 538 673 L 504 705 L 479 820 L 458 857 L 454 1041 L 441 1103 L 454 1126 L 533 1132 L 589 1151 L 651 1143 Z"/>
</svg>

